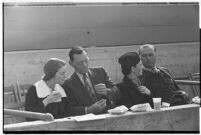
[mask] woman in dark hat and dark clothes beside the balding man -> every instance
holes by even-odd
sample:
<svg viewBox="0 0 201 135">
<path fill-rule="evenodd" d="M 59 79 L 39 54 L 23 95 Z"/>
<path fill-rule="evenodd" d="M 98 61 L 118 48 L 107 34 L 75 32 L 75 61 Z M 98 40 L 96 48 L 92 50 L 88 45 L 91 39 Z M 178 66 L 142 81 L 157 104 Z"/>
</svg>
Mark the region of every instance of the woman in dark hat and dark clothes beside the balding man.
<svg viewBox="0 0 201 135">
<path fill-rule="evenodd" d="M 122 82 L 117 84 L 122 93 L 117 105 L 125 105 L 128 108 L 142 103 L 152 105 L 151 92 L 143 86 L 142 79 L 139 78 L 142 75 L 142 64 L 138 53 L 125 53 L 118 62 L 121 65 L 124 78 Z"/>
</svg>

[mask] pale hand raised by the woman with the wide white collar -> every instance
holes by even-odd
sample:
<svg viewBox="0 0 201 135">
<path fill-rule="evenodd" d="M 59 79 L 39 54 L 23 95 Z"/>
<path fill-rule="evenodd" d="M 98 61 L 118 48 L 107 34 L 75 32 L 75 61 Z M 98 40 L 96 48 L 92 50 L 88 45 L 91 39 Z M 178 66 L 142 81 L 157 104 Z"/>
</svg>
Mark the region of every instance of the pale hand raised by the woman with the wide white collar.
<svg viewBox="0 0 201 135">
<path fill-rule="evenodd" d="M 47 106 L 50 103 L 53 102 L 60 102 L 61 101 L 61 94 L 57 91 L 53 91 L 49 96 L 47 96 L 44 100 L 43 100 L 43 104 L 45 106 Z"/>
</svg>

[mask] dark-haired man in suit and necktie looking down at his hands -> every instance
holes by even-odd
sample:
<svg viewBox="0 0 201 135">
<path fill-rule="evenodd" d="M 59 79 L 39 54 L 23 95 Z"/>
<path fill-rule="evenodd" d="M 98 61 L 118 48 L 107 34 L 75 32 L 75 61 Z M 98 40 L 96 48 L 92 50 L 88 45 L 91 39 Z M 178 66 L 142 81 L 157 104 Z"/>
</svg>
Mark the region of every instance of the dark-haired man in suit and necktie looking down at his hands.
<svg viewBox="0 0 201 135">
<path fill-rule="evenodd" d="M 72 115 L 104 113 L 120 98 L 120 91 L 102 67 L 89 68 L 87 51 L 73 47 L 69 64 L 75 69 L 63 85 L 72 107 Z"/>
</svg>

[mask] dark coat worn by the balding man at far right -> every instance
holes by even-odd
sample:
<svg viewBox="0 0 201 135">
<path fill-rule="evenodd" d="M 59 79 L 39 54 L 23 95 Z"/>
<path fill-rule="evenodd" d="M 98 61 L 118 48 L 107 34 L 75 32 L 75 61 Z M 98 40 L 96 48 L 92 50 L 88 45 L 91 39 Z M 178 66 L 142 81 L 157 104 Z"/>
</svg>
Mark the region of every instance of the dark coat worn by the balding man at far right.
<svg viewBox="0 0 201 135">
<path fill-rule="evenodd" d="M 153 97 L 161 97 L 163 102 L 173 105 L 187 104 L 188 94 L 176 84 L 169 70 L 164 67 L 157 67 L 160 72 L 152 73 L 143 69 L 145 86 L 151 90 Z"/>
</svg>

